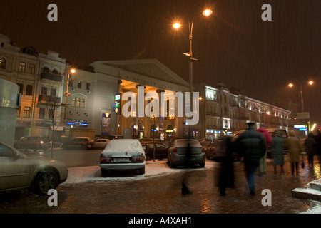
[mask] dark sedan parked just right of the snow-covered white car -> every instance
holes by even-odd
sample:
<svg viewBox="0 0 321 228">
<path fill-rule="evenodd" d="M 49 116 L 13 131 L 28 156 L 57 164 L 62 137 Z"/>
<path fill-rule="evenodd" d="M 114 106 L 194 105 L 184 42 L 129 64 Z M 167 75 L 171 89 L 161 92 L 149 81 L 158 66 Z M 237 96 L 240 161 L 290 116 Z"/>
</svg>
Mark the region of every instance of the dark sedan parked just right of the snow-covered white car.
<svg viewBox="0 0 321 228">
<path fill-rule="evenodd" d="M 190 147 L 190 157 L 187 160 L 188 146 Z M 205 149 L 200 142 L 195 139 L 178 139 L 172 142 L 172 147 L 168 149 L 168 165 L 176 167 L 180 165 L 199 164 L 205 166 Z"/>
</svg>

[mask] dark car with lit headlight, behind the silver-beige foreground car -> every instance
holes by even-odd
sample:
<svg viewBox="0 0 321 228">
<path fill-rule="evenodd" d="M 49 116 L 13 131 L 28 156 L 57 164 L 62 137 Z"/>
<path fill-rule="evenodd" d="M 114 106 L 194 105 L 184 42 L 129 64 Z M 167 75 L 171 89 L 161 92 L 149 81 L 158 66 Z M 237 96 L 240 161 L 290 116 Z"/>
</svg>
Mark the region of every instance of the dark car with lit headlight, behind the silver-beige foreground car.
<svg viewBox="0 0 321 228">
<path fill-rule="evenodd" d="M 14 147 L 18 150 L 48 150 L 51 148 L 51 140 L 46 136 L 26 136 L 14 142 Z"/>
</svg>

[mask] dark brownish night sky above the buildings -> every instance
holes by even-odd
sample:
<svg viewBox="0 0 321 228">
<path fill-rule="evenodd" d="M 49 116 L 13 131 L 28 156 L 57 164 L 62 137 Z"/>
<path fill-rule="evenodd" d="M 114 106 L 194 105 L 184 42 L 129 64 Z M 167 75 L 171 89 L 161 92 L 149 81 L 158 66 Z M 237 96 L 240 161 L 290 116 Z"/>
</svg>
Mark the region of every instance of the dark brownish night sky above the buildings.
<svg viewBox="0 0 321 228">
<path fill-rule="evenodd" d="M 47 6 L 58 6 L 48 21 Z M 272 21 L 263 21 L 263 4 Z M 203 8 L 213 10 L 210 18 Z M 219 81 L 245 95 L 289 108 L 303 86 L 310 122 L 321 124 L 320 0 L 3 0 L 0 33 L 19 47 L 60 53 L 87 66 L 96 60 L 157 58 L 188 81 L 188 21 L 193 21 L 194 83 Z M 183 29 L 172 28 L 174 19 Z M 300 110 L 300 106 L 299 106 Z"/>
</svg>

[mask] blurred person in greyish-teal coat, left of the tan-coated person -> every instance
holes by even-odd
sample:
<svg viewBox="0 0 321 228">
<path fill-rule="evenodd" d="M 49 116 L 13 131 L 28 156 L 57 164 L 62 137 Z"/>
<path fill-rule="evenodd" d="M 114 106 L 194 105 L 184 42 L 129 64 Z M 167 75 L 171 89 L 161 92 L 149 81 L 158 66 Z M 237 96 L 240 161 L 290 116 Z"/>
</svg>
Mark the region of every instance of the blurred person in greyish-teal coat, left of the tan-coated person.
<svg viewBox="0 0 321 228">
<path fill-rule="evenodd" d="M 281 173 L 284 172 L 284 142 L 285 140 L 280 133 L 275 133 L 275 135 L 273 135 L 270 150 L 272 152 L 275 174 L 277 173 L 277 165 L 281 166 Z"/>
</svg>

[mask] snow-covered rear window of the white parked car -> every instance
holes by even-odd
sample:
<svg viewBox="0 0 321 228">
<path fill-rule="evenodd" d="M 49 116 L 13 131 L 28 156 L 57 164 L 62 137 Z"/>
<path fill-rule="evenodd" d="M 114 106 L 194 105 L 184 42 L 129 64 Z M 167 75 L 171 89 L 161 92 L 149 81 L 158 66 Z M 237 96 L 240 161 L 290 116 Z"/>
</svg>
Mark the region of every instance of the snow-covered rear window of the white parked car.
<svg viewBox="0 0 321 228">
<path fill-rule="evenodd" d="M 141 147 L 141 143 L 138 140 L 111 140 L 105 150 L 141 151 L 143 147 Z"/>
</svg>

